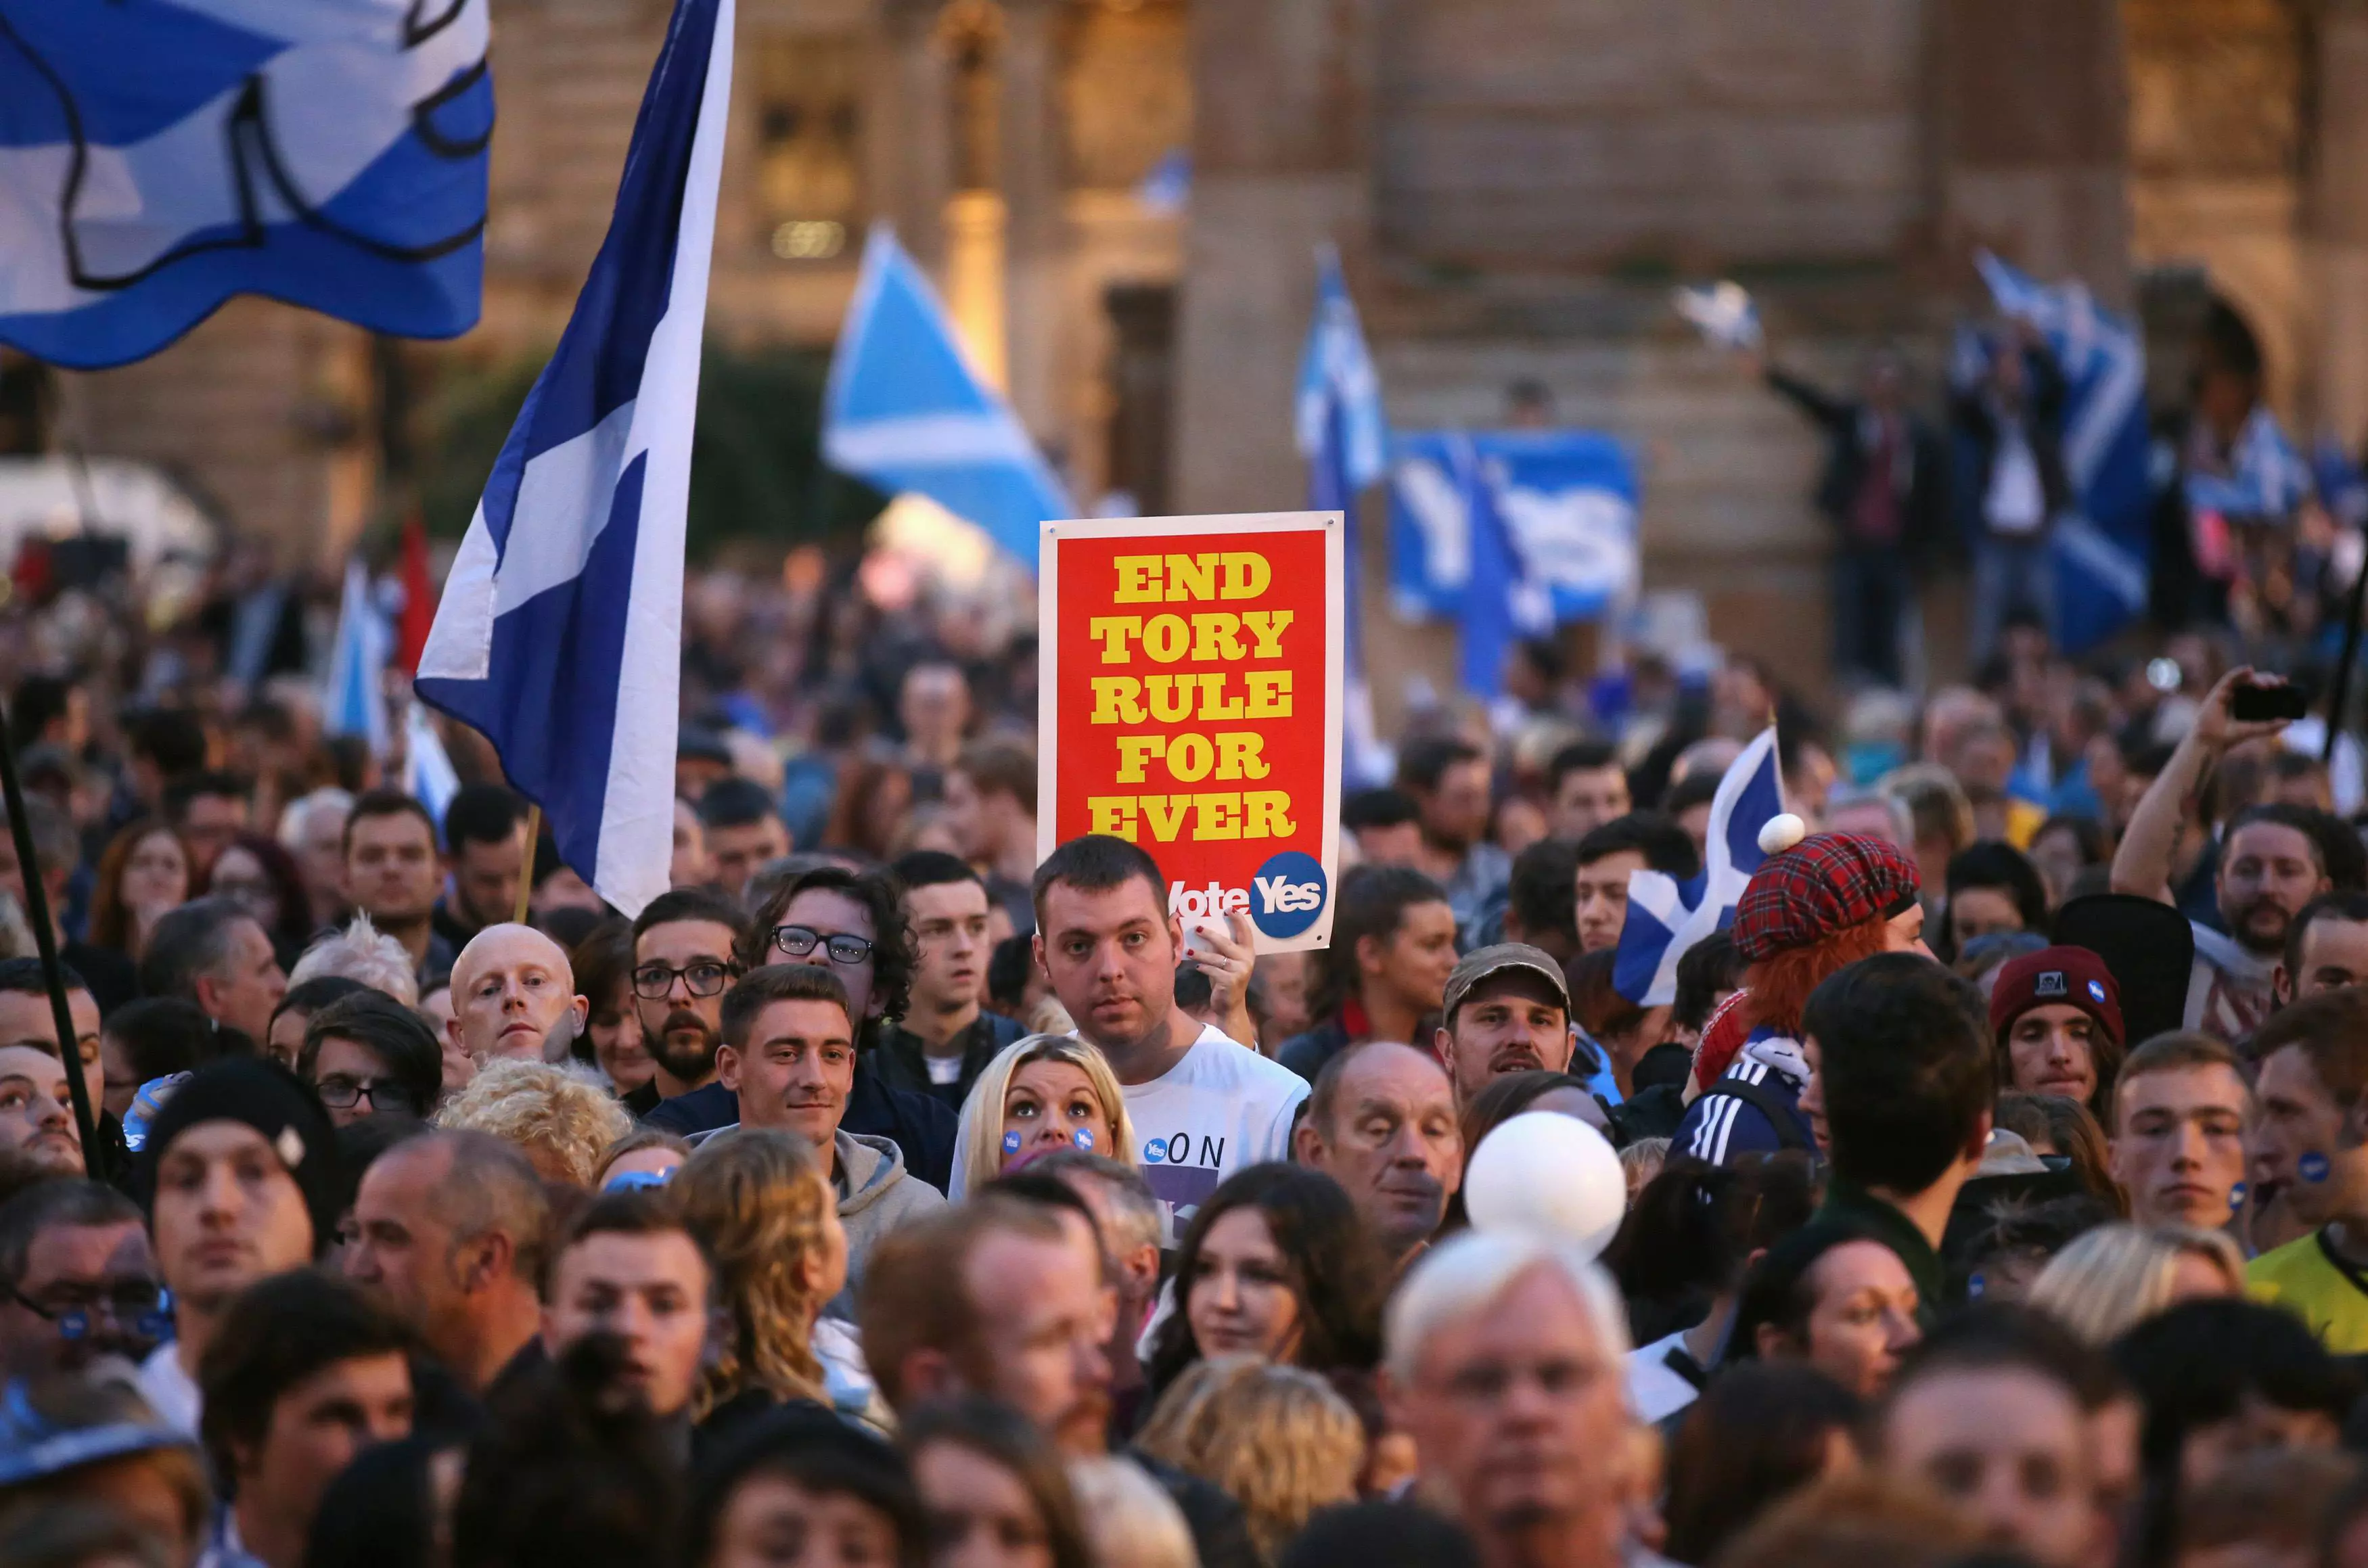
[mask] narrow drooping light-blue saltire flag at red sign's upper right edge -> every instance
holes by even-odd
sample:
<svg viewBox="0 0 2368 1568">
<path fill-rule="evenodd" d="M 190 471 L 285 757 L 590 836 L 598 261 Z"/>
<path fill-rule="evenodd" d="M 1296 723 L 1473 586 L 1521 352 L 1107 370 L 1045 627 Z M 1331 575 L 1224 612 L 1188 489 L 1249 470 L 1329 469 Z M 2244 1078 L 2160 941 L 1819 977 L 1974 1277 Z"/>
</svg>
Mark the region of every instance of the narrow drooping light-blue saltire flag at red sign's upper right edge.
<svg viewBox="0 0 2368 1568">
<path fill-rule="evenodd" d="M 1347 604 L 1347 703 L 1343 770 L 1350 784 L 1390 777 L 1390 751 L 1373 732 L 1373 689 L 1364 680 L 1364 552 L 1357 547 L 1357 495 L 1381 481 L 1390 460 L 1390 422 L 1381 412 L 1381 377 L 1364 346 L 1357 301 L 1340 277 L 1340 251 L 1317 246 L 1317 308 L 1300 351 L 1300 391 L 1293 424 L 1307 460 L 1307 509 L 1338 512 Z"/>
</svg>

